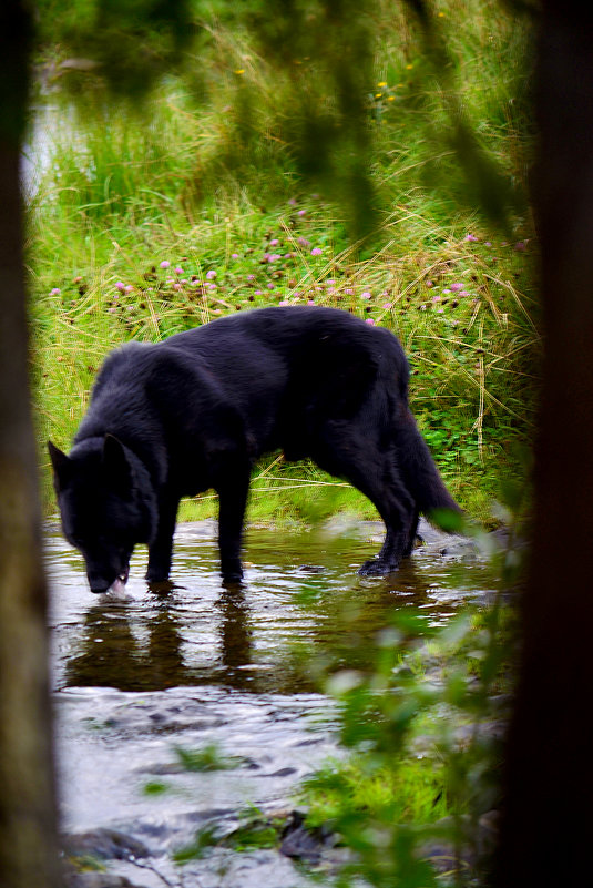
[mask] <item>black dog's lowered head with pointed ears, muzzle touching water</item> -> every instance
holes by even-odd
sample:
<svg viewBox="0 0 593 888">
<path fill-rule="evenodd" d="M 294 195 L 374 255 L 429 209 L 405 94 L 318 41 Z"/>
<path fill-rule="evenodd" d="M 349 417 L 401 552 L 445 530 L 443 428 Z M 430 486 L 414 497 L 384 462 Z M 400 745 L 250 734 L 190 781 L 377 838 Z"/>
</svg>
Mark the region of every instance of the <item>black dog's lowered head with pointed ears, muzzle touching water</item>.
<svg viewBox="0 0 593 888">
<path fill-rule="evenodd" d="M 64 537 L 84 557 L 91 591 L 123 589 L 134 545 L 151 532 L 133 456 L 112 435 L 70 456 L 51 441 L 48 449 Z"/>
</svg>

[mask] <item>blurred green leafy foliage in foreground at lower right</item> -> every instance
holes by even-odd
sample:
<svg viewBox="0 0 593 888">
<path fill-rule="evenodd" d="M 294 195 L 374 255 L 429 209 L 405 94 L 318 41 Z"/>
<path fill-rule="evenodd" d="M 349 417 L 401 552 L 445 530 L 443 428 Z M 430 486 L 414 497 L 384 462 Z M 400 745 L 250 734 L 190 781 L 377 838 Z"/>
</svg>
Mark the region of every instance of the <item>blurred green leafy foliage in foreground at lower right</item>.
<svg viewBox="0 0 593 888">
<path fill-rule="evenodd" d="M 331 884 L 483 884 L 512 623 L 500 601 L 444 629 L 396 614 L 376 640 L 371 671 L 329 678 L 350 754 L 308 779 L 301 800 L 308 824 L 329 824 L 352 854 Z"/>
</svg>

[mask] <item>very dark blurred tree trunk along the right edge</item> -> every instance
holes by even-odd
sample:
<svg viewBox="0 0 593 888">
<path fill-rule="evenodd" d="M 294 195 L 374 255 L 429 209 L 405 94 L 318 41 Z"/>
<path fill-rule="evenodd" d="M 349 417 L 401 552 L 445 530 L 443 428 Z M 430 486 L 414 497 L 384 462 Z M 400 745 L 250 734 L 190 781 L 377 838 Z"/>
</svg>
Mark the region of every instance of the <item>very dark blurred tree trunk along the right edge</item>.
<svg viewBox="0 0 593 888">
<path fill-rule="evenodd" d="M 593 11 L 543 0 L 534 204 L 545 364 L 500 888 L 591 885 Z"/>
</svg>

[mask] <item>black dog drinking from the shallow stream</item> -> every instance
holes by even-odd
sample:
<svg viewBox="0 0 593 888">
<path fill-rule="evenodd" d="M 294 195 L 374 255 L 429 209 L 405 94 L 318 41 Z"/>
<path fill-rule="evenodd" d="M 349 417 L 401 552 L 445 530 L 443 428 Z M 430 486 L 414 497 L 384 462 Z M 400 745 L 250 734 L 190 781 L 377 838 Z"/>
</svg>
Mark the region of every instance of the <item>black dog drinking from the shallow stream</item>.
<svg viewBox="0 0 593 888">
<path fill-rule="evenodd" d="M 263 308 L 114 351 L 70 456 L 49 443 L 92 591 L 125 583 L 136 543 L 149 545 L 146 579 L 166 580 L 180 499 L 209 488 L 222 574 L 238 581 L 251 470 L 275 449 L 362 491 L 387 534 L 360 572 L 396 570 L 419 512 L 459 511 L 408 408 L 408 375 L 392 334 L 321 307 Z"/>
</svg>

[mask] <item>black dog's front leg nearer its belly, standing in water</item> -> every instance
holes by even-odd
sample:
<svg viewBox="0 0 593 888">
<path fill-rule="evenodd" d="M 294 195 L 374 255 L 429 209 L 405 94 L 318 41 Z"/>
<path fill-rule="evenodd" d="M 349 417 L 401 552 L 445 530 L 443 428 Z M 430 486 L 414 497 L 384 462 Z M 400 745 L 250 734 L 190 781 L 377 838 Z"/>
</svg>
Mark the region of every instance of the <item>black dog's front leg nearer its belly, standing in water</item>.
<svg viewBox="0 0 593 888">
<path fill-rule="evenodd" d="M 249 490 L 249 466 L 233 466 L 216 486 L 219 498 L 218 548 L 221 551 L 221 573 L 225 583 L 237 583 L 243 578 L 241 542 Z"/>
</svg>

